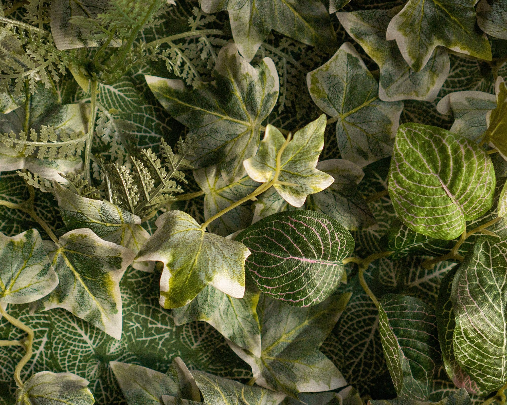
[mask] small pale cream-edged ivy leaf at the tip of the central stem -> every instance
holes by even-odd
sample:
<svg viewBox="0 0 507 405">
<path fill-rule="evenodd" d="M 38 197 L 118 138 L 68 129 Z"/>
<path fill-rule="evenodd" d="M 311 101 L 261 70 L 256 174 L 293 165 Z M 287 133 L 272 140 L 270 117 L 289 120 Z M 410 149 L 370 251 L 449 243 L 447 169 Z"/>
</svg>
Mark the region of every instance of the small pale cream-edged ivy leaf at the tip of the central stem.
<svg viewBox="0 0 507 405">
<path fill-rule="evenodd" d="M 324 146 L 325 115 L 297 131 L 280 156 L 281 170 L 273 187 L 287 203 L 301 207 L 308 194 L 329 187 L 333 177 L 315 169 L 318 156 Z M 276 172 L 276 157 L 285 142 L 282 133 L 268 124 L 266 134 L 257 154 L 243 161 L 246 173 L 253 180 L 265 183 L 273 180 Z"/>
</svg>

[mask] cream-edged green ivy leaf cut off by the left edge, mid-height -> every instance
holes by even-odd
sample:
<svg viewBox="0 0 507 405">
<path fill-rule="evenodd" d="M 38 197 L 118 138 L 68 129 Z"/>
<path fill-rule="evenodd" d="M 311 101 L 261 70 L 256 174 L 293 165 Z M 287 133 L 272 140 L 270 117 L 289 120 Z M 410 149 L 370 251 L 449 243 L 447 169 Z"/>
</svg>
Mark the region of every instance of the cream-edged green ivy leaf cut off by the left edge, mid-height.
<svg viewBox="0 0 507 405">
<path fill-rule="evenodd" d="M 37 229 L 11 237 L 0 232 L 0 263 L 0 302 L 32 302 L 58 285 L 58 276 Z"/>
</svg>

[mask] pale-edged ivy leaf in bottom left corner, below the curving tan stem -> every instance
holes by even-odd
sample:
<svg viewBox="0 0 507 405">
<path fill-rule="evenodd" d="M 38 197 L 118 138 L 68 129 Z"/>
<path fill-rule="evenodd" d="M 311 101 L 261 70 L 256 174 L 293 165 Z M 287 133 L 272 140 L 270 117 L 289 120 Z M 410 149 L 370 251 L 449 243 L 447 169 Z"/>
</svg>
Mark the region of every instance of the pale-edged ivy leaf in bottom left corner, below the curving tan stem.
<svg viewBox="0 0 507 405">
<path fill-rule="evenodd" d="M 16 391 L 16 405 L 93 405 L 88 384 L 76 374 L 41 371 Z"/>
</svg>

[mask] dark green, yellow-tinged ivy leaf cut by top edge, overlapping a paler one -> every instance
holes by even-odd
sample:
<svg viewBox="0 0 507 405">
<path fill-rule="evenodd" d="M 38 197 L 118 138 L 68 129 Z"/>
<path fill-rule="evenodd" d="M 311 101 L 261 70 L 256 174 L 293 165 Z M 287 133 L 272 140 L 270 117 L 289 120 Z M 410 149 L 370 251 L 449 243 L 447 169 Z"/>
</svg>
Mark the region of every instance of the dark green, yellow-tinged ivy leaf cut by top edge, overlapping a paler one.
<svg viewBox="0 0 507 405">
<path fill-rule="evenodd" d="M 416 72 L 424 67 L 438 46 L 491 60 L 488 39 L 475 28 L 475 3 L 475 0 L 445 3 L 409 0 L 389 22 L 386 38 L 396 40 L 403 57 Z"/>
</svg>

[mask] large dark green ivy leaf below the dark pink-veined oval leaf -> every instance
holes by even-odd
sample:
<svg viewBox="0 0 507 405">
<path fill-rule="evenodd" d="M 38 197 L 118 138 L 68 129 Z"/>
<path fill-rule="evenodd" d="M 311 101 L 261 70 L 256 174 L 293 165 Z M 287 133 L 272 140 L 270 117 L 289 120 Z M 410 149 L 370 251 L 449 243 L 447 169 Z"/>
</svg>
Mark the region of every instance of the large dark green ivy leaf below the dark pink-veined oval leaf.
<svg viewBox="0 0 507 405">
<path fill-rule="evenodd" d="M 333 295 L 306 308 L 294 308 L 261 295 L 257 313 L 261 323 L 261 356 L 232 342 L 261 387 L 298 399 L 300 392 L 328 391 L 345 386 L 345 379 L 318 348 L 333 329 L 350 294 Z"/>
</svg>

